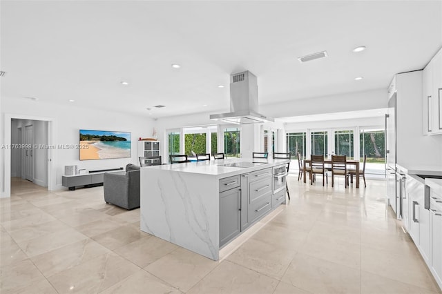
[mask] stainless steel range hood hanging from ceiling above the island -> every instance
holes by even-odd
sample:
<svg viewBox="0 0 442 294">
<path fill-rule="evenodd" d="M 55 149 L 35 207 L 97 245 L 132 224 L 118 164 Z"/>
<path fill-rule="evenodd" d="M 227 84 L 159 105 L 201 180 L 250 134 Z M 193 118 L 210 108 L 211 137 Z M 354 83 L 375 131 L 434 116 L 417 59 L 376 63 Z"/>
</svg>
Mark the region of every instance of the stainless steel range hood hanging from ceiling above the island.
<svg viewBox="0 0 442 294">
<path fill-rule="evenodd" d="M 210 119 L 233 124 L 275 121 L 258 113 L 258 79 L 249 71 L 230 76 L 230 112 L 210 115 Z"/>
</svg>

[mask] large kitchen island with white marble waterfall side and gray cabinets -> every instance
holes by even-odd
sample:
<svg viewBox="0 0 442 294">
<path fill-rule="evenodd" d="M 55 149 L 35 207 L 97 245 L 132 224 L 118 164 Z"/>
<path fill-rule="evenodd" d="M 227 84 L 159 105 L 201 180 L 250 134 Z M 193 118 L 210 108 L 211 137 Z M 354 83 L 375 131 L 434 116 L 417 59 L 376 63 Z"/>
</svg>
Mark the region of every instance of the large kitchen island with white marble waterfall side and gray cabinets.
<svg viewBox="0 0 442 294">
<path fill-rule="evenodd" d="M 222 159 L 141 168 L 140 227 L 218 260 L 220 247 L 285 203 L 289 159 Z M 284 187 L 273 192 L 273 183 Z"/>
</svg>

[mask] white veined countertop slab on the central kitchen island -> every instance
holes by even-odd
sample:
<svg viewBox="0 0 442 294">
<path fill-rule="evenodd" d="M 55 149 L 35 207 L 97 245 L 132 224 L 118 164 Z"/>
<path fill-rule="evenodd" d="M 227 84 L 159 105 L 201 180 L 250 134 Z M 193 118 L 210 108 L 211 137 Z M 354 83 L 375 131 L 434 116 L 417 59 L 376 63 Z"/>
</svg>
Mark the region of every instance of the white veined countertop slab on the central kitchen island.
<svg viewBox="0 0 442 294">
<path fill-rule="evenodd" d="M 240 168 L 234 166 L 223 166 L 224 164 L 233 164 L 238 162 L 253 162 L 256 166 Z M 194 173 L 202 175 L 213 175 L 217 178 L 230 177 L 233 175 L 240 175 L 242 173 L 249 173 L 263 168 L 279 166 L 286 164 L 289 159 L 258 159 L 258 158 L 229 158 L 216 159 L 207 161 L 192 161 L 184 164 L 163 164 L 161 166 L 144 166 L 143 168 L 153 168 L 157 170 L 176 171 L 180 173 Z"/>
</svg>

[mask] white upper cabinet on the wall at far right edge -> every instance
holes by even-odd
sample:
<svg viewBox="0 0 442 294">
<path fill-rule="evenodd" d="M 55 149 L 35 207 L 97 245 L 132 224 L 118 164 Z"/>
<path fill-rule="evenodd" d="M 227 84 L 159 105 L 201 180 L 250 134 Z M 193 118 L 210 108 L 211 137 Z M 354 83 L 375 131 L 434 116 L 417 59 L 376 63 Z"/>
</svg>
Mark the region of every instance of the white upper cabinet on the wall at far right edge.
<svg viewBox="0 0 442 294">
<path fill-rule="evenodd" d="M 442 134 L 442 49 L 423 70 L 423 134 Z"/>
</svg>

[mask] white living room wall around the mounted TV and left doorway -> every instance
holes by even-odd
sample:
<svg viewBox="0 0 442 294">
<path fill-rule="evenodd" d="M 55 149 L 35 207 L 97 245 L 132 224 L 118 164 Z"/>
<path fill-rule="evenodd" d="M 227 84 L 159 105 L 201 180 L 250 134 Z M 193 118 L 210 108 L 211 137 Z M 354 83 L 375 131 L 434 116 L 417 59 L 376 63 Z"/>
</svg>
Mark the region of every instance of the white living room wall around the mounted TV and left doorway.
<svg viewBox="0 0 442 294">
<path fill-rule="evenodd" d="M 59 149 L 52 150 L 52 171 L 55 182 L 55 188 L 61 188 L 61 176 L 64 173 L 64 166 L 77 165 L 78 168 L 86 170 L 119 168 L 124 167 L 128 163 L 137 164 L 137 144 L 135 141 L 139 137 L 151 137 L 153 130 L 153 120 L 148 117 L 136 117 L 133 115 L 108 112 L 105 110 L 79 108 L 74 104 L 47 104 L 44 101 L 28 101 L 26 99 L 12 99 L 2 97 L 2 127 L 1 132 L 4 134 L 3 121 L 6 114 L 12 117 L 20 117 L 29 115 L 50 117 L 54 121 L 55 133 L 52 134 L 53 146 L 60 144 L 79 144 L 79 129 L 93 130 L 114 130 L 131 132 L 132 144 L 131 158 L 126 159 L 99 159 L 79 161 L 78 149 Z M 4 135 L 1 136 L 1 144 L 4 142 Z M 4 160 L 5 152 L 10 150 L 2 150 L 0 158 Z M 2 162 L 1 169 L 4 170 L 5 164 Z M 9 179 L 6 179 L 9 180 Z M 3 181 L 1 181 L 3 183 Z M 2 192 L 4 192 L 4 185 Z"/>
</svg>

